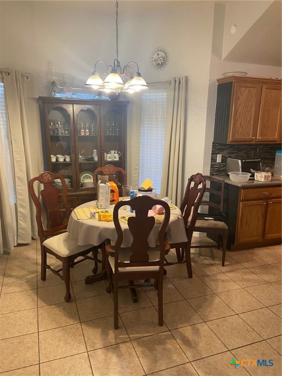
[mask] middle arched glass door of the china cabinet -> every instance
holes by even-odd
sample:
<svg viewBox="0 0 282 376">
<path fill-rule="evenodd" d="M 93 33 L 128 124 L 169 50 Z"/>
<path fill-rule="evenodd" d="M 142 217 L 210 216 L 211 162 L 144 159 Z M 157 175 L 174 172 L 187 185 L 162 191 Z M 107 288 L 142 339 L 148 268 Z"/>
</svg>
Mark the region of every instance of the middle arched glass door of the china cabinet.
<svg viewBox="0 0 282 376">
<path fill-rule="evenodd" d="M 100 107 L 73 105 L 77 190 L 92 190 L 93 172 L 101 165 Z M 94 150 L 96 150 L 94 155 Z"/>
</svg>

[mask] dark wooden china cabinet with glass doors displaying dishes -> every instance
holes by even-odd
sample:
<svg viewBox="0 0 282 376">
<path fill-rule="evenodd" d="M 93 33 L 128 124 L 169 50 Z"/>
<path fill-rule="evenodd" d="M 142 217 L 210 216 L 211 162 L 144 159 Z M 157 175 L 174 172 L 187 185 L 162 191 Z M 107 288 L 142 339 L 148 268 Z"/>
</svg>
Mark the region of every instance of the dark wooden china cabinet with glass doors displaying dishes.
<svg viewBox="0 0 282 376">
<path fill-rule="evenodd" d="M 90 180 L 97 167 L 114 164 L 125 169 L 127 104 L 119 100 L 39 97 L 44 168 L 69 179 L 71 208 L 96 198 Z M 106 160 L 111 151 L 117 151 L 118 157 Z"/>
</svg>

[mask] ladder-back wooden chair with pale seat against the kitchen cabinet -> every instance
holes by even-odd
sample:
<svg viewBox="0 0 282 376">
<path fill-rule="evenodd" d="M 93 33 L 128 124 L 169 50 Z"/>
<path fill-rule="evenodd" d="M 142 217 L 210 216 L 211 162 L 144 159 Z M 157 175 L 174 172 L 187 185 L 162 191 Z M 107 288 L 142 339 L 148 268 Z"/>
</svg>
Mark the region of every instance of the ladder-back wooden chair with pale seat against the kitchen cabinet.
<svg viewBox="0 0 282 376">
<path fill-rule="evenodd" d="M 195 223 L 194 231 L 199 233 L 206 233 L 207 235 L 214 235 L 217 241 L 217 249 L 222 249 L 222 266 L 224 266 L 228 226 L 224 223 L 223 216 L 223 198 L 224 198 L 224 179 L 214 178 L 205 175 L 206 189 L 205 195 L 208 194 L 207 199 L 200 203 L 200 208 L 208 207 L 208 213 L 199 213 Z M 197 244 L 193 248 L 212 248 L 212 244 Z"/>
</svg>

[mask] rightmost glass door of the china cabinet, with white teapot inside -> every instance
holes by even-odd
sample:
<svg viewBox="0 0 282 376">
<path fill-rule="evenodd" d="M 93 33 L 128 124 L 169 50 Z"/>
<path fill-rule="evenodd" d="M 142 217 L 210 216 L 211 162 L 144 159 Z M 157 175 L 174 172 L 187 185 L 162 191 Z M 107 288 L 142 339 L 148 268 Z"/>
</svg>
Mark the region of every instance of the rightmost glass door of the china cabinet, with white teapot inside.
<svg viewBox="0 0 282 376">
<path fill-rule="evenodd" d="M 125 168 L 126 107 L 101 107 L 101 161 Z"/>
</svg>

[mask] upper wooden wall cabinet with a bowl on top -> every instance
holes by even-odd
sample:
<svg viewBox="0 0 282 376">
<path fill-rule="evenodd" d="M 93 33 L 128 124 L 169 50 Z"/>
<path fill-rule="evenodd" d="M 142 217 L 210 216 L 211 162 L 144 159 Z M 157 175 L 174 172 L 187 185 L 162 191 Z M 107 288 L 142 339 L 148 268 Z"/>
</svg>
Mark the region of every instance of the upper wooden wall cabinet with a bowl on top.
<svg viewBox="0 0 282 376">
<path fill-rule="evenodd" d="M 217 83 L 213 142 L 281 142 L 281 80 L 230 76 Z"/>
</svg>

